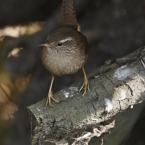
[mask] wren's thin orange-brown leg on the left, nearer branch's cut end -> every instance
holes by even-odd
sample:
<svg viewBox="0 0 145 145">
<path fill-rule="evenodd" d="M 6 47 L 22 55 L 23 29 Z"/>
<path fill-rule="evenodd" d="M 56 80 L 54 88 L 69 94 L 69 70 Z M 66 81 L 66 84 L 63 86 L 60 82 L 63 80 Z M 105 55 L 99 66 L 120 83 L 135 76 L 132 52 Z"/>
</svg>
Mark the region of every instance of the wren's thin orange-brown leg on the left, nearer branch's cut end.
<svg viewBox="0 0 145 145">
<path fill-rule="evenodd" d="M 54 100 L 55 102 L 58 102 L 56 99 L 53 98 L 53 93 L 52 93 L 53 82 L 54 82 L 54 75 L 52 75 L 52 78 L 51 78 L 51 83 L 50 83 L 50 87 L 48 91 L 48 97 L 46 101 L 46 105 L 49 105 L 49 106 L 51 106 L 51 99 Z"/>
</svg>

